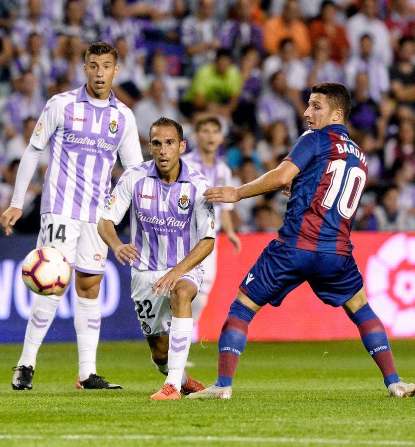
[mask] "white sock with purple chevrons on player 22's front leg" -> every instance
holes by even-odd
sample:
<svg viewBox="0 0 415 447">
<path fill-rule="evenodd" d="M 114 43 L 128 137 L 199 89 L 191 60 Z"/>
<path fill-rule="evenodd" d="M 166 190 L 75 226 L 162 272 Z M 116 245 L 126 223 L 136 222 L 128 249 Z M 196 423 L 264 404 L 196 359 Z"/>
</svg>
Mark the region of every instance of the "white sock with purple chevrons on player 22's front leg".
<svg viewBox="0 0 415 447">
<path fill-rule="evenodd" d="M 167 360 L 169 373 L 164 383 L 172 383 L 179 393 L 192 341 L 192 331 L 193 318 L 172 317 Z"/>
</svg>

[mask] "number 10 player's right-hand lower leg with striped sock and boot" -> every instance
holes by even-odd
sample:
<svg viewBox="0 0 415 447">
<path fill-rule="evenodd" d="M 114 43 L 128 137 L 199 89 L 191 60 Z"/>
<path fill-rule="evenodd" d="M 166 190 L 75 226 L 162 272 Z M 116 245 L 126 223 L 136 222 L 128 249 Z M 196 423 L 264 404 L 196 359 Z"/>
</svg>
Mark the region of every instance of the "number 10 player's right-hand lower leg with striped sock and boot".
<svg viewBox="0 0 415 447">
<path fill-rule="evenodd" d="M 392 397 L 412 397 L 415 384 L 404 383 L 396 372 L 385 328 L 371 309 L 362 287 L 343 305 L 347 316 L 359 329 L 363 345 L 383 374 L 384 383 Z"/>
</svg>

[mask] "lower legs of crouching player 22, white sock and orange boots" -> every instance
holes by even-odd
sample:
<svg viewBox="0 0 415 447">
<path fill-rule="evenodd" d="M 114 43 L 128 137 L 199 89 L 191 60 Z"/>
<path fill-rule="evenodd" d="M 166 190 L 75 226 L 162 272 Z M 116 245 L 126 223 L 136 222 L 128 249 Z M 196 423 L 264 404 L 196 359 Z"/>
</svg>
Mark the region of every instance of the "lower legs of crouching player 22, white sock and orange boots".
<svg viewBox="0 0 415 447">
<path fill-rule="evenodd" d="M 152 400 L 179 399 L 181 390 L 186 394 L 191 391 L 191 387 L 203 386 L 185 372 L 193 331 L 191 301 L 196 293 L 193 283 L 178 281 L 170 296 L 172 321 L 168 338 L 164 336 L 163 342 L 153 341 L 153 348 L 148 339 L 152 360 L 161 373 L 165 373 L 165 364 L 162 365 L 162 362 L 167 360 L 167 378 L 160 391 L 151 396 Z M 167 358 L 163 357 L 166 354 Z M 184 382 L 185 379 L 186 382 Z"/>
</svg>

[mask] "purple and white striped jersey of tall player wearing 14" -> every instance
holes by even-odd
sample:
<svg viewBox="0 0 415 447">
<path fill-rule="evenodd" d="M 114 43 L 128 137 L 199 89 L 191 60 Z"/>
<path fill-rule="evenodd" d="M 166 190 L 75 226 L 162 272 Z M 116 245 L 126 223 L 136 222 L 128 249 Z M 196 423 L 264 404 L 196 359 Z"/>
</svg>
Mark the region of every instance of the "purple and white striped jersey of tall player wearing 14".
<svg viewBox="0 0 415 447">
<path fill-rule="evenodd" d="M 112 91 L 107 107 L 91 104 L 85 85 L 47 102 L 30 143 L 43 150 L 50 141 L 41 213 L 97 223 L 117 152 L 125 168 L 142 155 L 133 112 Z"/>
</svg>

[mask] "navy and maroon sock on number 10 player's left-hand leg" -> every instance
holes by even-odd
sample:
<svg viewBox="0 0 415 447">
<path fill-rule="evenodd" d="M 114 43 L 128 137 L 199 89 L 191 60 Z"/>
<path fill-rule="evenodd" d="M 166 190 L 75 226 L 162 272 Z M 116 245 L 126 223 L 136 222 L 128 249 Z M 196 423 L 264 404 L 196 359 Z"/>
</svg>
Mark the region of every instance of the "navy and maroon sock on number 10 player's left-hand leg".
<svg viewBox="0 0 415 447">
<path fill-rule="evenodd" d="M 248 324 L 255 312 L 235 299 L 219 337 L 216 386 L 231 386 L 239 357 L 245 349 Z"/>
</svg>

